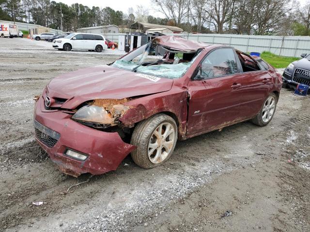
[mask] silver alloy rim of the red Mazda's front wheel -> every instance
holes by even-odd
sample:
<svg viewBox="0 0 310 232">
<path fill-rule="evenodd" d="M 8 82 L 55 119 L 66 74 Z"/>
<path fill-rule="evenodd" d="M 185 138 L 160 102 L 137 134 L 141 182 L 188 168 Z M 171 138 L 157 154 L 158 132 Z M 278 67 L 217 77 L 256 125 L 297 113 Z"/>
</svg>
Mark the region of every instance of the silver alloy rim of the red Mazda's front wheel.
<svg viewBox="0 0 310 232">
<path fill-rule="evenodd" d="M 161 123 L 150 138 L 148 157 L 152 163 L 161 163 L 170 154 L 175 141 L 175 130 L 171 123 Z"/>
</svg>

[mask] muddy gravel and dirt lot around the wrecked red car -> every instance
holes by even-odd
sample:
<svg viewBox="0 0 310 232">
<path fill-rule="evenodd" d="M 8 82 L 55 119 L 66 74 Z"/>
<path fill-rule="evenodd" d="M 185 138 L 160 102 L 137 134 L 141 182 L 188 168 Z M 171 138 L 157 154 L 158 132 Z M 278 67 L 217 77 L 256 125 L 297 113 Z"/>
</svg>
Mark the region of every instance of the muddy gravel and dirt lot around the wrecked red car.
<svg viewBox="0 0 310 232">
<path fill-rule="evenodd" d="M 310 231 L 309 98 L 283 89 L 268 126 L 243 122 L 178 142 L 155 169 L 127 157 L 115 172 L 73 178 L 34 141 L 32 97 L 60 73 L 121 53 L 0 43 L 0 231 Z"/>
</svg>

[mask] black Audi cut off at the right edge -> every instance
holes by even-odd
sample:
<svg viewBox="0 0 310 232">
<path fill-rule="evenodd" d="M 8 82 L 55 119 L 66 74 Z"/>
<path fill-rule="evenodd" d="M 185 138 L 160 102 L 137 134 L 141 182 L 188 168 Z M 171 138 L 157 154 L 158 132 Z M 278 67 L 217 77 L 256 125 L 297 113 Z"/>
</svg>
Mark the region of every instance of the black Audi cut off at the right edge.
<svg viewBox="0 0 310 232">
<path fill-rule="evenodd" d="M 283 87 L 296 88 L 298 84 L 310 86 L 310 54 L 301 54 L 302 59 L 290 63 L 283 72 Z"/>
</svg>

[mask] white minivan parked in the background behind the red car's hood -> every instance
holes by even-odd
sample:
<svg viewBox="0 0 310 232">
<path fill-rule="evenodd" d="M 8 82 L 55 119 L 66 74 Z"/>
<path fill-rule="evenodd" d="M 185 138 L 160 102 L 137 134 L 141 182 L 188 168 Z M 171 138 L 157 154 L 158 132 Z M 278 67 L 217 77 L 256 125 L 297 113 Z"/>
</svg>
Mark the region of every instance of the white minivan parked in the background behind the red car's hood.
<svg viewBox="0 0 310 232">
<path fill-rule="evenodd" d="M 58 50 L 89 50 L 102 52 L 108 49 L 106 39 L 102 35 L 88 33 L 72 33 L 61 39 L 53 40 L 53 48 Z"/>
</svg>

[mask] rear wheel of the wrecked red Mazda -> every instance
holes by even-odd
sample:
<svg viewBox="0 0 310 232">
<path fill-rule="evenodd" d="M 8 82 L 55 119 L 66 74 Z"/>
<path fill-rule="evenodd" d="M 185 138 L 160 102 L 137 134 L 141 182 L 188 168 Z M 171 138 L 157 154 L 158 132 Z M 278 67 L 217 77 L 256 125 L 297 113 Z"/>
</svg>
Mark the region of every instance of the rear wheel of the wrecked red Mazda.
<svg viewBox="0 0 310 232">
<path fill-rule="evenodd" d="M 267 106 L 269 99 L 272 99 L 271 101 L 274 104 L 274 108 L 266 108 L 266 107 L 270 107 L 272 105 L 272 103 L 270 103 L 270 105 Z M 276 94 L 271 93 L 263 102 L 263 106 L 262 106 L 260 112 L 254 118 L 251 119 L 251 122 L 258 125 L 258 126 L 261 126 L 261 127 L 266 126 L 271 121 L 273 116 L 275 115 L 276 108 L 277 108 L 277 102 L 278 102 L 278 98 L 277 98 Z M 269 109 L 269 112 L 271 109 L 273 109 L 273 111 L 271 112 L 271 116 L 266 112 L 266 111 L 268 111 L 268 109 Z M 266 114 L 267 114 L 265 116 L 265 118 L 264 118 L 263 112 L 266 112 Z"/>
</svg>

